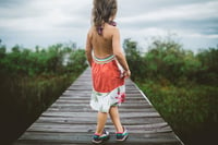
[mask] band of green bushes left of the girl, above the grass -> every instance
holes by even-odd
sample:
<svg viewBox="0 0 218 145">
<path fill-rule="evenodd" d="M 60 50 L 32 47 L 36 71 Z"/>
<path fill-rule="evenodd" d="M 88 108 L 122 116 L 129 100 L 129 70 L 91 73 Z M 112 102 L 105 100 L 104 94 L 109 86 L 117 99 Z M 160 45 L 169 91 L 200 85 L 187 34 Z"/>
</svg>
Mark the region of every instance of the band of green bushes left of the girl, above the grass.
<svg viewBox="0 0 218 145">
<path fill-rule="evenodd" d="M 21 49 L 19 46 L 12 48 L 12 52 L 7 53 L 4 48 L 0 48 L 0 55 L 4 56 L 0 60 L 1 73 L 10 72 L 10 75 L 34 76 L 40 74 L 62 74 L 72 72 L 71 65 L 63 65 L 65 55 L 74 55 L 74 58 L 68 60 L 69 63 L 80 60 L 81 68 L 86 67 L 84 50 L 72 50 L 57 44 L 48 47 L 48 49 L 36 49 L 34 52 L 29 49 Z M 78 63 L 75 63 L 75 65 Z M 71 68 L 71 69 L 70 69 Z M 74 71 L 77 70 L 74 68 Z M 81 70 L 81 69 L 80 69 Z"/>
</svg>

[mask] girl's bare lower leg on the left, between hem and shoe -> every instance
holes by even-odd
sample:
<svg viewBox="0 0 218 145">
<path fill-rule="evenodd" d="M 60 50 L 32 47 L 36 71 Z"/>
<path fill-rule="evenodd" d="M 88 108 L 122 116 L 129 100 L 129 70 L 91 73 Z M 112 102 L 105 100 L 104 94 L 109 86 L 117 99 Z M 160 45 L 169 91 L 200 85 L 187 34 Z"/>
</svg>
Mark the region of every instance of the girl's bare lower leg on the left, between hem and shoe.
<svg viewBox="0 0 218 145">
<path fill-rule="evenodd" d="M 105 129 L 105 124 L 107 121 L 108 113 L 107 112 L 98 112 L 98 122 L 97 122 L 97 129 L 96 133 L 97 134 L 102 134 L 102 131 Z"/>
</svg>

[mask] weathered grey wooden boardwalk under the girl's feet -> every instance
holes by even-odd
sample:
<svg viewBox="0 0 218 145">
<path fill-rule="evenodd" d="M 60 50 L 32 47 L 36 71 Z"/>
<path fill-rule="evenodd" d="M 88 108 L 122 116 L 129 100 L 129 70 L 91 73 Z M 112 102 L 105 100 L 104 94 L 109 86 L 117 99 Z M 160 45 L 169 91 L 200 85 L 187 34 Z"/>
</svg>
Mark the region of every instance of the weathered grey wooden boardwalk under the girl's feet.
<svg viewBox="0 0 218 145">
<path fill-rule="evenodd" d="M 89 107 L 90 92 L 90 70 L 87 69 L 14 145 L 92 144 L 97 113 Z M 130 133 L 124 144 L 183 144 L 131 80 L 126 80 L 126 101 L 119 110 L 121 122 Z M 109 118 L 106 129 L 111 134 L 107 144 L 116 144 L 114 128 Z"/>
</svg>

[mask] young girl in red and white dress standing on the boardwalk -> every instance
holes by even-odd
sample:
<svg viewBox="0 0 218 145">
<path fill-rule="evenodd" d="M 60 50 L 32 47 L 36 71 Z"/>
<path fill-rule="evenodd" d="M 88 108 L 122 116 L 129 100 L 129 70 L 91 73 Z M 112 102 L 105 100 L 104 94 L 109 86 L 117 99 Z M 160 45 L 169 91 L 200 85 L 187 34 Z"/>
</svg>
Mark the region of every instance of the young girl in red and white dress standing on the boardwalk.
<svg viewBox="0 0 218 145">
<path fill-rule="evenodd" d="M 113 22 L 117 0 L 94 0 L 93 26 L 87 34 L 86 57 L 92 68 L 93 93 L 90 107 L 98 111 L 97 129 L 93 143 L 109 138 L 105 130 L 108 113 L 116 126 L 117 141 L 128 137 L 128 130 L 120 122 L 118 106 L 124 101 L 124 78 L 131 75 L 120 46 L 120 33 Z"/>
</svg>

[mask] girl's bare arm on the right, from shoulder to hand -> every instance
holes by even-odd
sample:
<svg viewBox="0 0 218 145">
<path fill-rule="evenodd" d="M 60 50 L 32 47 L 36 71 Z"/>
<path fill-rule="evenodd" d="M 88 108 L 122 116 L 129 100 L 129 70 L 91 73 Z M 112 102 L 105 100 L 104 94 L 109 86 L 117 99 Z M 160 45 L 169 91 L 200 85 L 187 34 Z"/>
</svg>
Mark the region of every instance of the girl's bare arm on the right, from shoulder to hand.
<svg viewBox="0 0 218 145">
<path fill-rule="evenodd" d="M 131 72 L 120 46 L 120 32 L 117 27 L 114 28 L 114 32 L 112 35 L 112 49 L 113 49 L 113 55 L 116 56 L 118 62 L 124 69 L 124 72 L 123 72 L 124 76 L 129 77 L 131 75 Z"/>
</svg>

